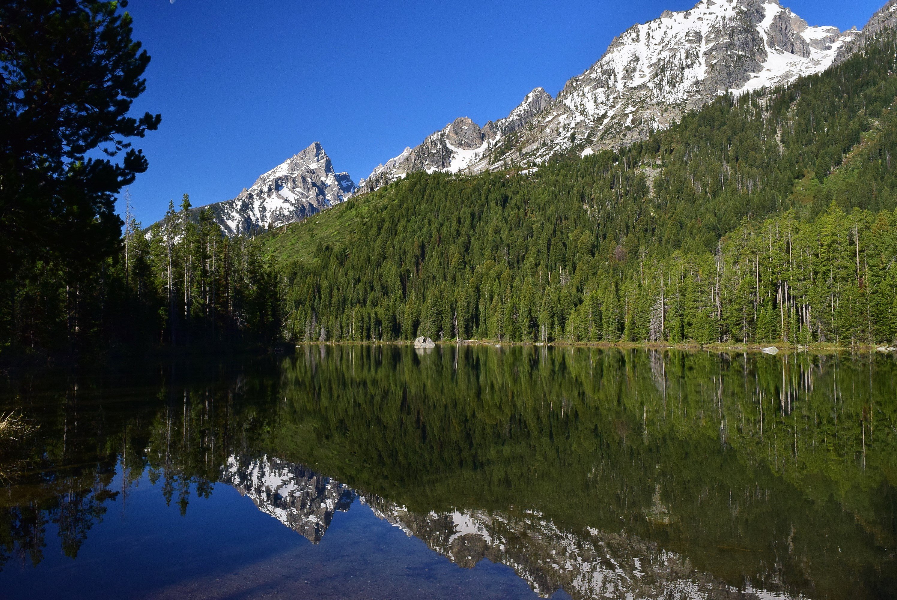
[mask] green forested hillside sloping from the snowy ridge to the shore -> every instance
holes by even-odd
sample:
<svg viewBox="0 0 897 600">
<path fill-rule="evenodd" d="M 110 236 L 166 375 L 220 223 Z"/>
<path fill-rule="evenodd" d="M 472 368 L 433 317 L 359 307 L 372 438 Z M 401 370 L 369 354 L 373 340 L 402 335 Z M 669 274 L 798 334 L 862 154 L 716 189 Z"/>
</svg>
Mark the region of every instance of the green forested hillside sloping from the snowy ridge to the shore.
<svg viewBox="0 0 897 600">
<path fill-rule="evenodd" d="M 893 340 L 894 40 L 617 154 L 415 173 L 275 230 L 288 334 Z"/>
</svg>

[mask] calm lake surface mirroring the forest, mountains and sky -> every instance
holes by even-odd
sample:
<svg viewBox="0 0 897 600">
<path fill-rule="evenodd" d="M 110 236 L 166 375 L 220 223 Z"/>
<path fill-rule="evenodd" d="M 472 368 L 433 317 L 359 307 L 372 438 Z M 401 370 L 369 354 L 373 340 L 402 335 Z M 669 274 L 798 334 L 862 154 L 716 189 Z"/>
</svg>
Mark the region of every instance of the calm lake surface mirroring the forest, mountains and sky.
<svg viewBox="0 0 897 600">
<path fill-rule="evenodd" d="M 7 380 L 2 598 L 894 598 L 893 357 L 307 346 Z"/>
</svg>

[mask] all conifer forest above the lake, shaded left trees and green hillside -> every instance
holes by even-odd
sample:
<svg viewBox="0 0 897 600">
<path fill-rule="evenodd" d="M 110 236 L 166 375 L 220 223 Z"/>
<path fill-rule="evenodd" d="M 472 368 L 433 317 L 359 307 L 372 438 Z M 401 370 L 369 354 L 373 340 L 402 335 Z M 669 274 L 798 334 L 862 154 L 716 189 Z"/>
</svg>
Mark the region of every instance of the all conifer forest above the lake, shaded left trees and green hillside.
<svg viewBox="0 0 897 600">
<path fill-rule="evenodd" d="M 111 125 L 87 113 L 82 124 L 84 136 L 101 130 L 90 144 L 111 155 L 161 119 L 126 117 L 121 98 L 143 92 L 149 57 L 113 4 L 95 7 L 94 34 L 105 27 L 127 42 L 118 52 L 130 78 L 112 91 Z M 41 15 L 19 16 L 31 31 Z M 25 53 L 45 42 L 17 43 Z M 580 158 L 575 147 L 537 169 L 477 176 L 413 173 L 260 239 L 224 236 L 186 195 L 149 229 L 124 224 L 114 194 L 146 170 L 143 154 L 85 159 L 90 145 L 53 123 L 48 147 L 7 135 L 0 353 L 419 335 L 892 342 L 895 50 L 885 32 L 823 74 L 720 96 L 616 152 Z M 19 75 L 22 94 L 41 93 L 40 73 Z M 6 99 L 18 111 L 10 132 L 33 127 L 16 98 Z M 40 153 L 57 163 L 34 163 Z M 73 178 L 93 191 L 75 193 Z M 30 221 L 16 220 L 29 202 Z"/>
</svg>

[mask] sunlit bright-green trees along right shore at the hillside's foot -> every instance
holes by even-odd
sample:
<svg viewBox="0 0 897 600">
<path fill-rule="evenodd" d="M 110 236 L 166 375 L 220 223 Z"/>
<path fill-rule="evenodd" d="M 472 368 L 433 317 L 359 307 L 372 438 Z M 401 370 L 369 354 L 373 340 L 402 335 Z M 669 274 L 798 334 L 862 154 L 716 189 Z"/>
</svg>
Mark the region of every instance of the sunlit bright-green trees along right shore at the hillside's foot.
<svg viewBox="0 0 897 600">
<path fill-rule="evenodd" d="M 846 214 L 832 203 L 812 221 L 789 211 L 739 227 L 713 252 L 643 260 L 626 278 L 597 282 L 566 318 L 539 319 L 567 341 L 893 341 L 895 257 L 897 212 Z"/>
</svg>

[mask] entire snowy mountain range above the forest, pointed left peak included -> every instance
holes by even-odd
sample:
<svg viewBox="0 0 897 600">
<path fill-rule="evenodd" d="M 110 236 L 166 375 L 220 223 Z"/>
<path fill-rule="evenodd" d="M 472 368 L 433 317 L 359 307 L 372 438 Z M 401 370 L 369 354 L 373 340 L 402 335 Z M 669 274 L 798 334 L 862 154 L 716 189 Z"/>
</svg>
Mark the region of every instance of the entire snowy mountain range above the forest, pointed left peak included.
<svg viewBox="0 0 897 600">
<path fill-rule="evenodd" d="M 458 117 L 357 185 L 348 173 L 334 171 L 315 142 L 237 198 L 208 207 L 226 234 L 244 234 L 302 220 L 411 172 L 475 174 L 541 164 L 558 153 L 619 149 L 722 93 L 753 92 L 823 71 L 893 26 L 895 8 L 897 0 L 889 0 L 863 31 L 840 31 L 807 24 L 779 0 L 700 0 L 623 31 L 555 98 L 536 87 L 508 116 L 482 127 Z M 305 169 L 309 165 L 297 157 L 312 148 L 320 164 Z"/>
</svg>

